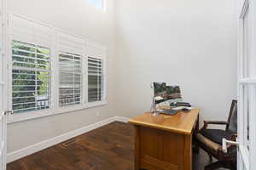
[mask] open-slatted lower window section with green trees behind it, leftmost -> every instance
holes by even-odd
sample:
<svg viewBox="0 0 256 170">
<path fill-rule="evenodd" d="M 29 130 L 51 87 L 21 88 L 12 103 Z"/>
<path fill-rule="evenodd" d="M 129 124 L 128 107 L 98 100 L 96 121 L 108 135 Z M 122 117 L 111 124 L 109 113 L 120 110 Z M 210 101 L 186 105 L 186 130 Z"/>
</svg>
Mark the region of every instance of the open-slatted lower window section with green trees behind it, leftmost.
<svg viewBox="0 0 256 170">
<path fill-rule="evenodd" d="M 15 113 L 49 108 L 49 59 L 49 48 L 15 40 L 12 42 L 12 108 Z"/>
</svg>

